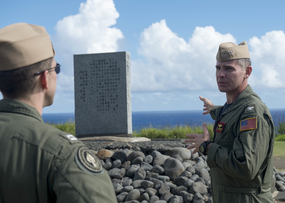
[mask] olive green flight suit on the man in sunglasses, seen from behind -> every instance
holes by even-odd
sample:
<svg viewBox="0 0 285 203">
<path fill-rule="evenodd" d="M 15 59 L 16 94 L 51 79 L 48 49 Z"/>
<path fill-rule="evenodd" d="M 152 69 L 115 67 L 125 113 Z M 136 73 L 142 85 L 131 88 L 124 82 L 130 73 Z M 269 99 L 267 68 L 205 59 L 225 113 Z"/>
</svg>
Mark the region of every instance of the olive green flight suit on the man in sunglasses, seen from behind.
<svg viewBox="0 0 285 203">
<path fill-rule="evenodd" d="M 19 100 L 0 101 L 0 202 L 117 202 L 95 154 Z"/>
</svg>

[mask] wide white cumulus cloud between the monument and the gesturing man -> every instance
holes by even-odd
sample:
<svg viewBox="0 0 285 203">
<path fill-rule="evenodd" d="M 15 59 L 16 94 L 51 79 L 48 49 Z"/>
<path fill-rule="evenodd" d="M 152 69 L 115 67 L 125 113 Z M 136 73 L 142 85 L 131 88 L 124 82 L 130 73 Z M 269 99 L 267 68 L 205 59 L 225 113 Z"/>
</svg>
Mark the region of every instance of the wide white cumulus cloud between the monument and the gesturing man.
<svg viewBox="0 0 285 203">
<path fill-rule="evenodd" d="M 236 42 L 212 26 L 196 27 L 186 42 L 168 28 L 153 23 L 141 33 L 139 54 L 132 61 L 133 92 L 172 92 L 216 88 L 215 56 L 219 44 Z"/>
</svg>

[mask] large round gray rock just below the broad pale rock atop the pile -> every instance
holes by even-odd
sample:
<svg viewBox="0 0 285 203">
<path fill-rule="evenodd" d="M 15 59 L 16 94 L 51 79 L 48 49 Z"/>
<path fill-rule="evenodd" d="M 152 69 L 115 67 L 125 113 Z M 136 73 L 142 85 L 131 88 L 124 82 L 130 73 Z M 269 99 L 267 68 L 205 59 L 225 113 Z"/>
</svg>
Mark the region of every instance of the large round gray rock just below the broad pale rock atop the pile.
<svg viewBox="0 0 285 203">
<path fill-rule="evenodd" d="M 178 159 L 168 158 L 165 160 L 164 173 L 170 180 L 173 181 L 173 179 L 178 177 L 183 171 L 185 171 L 184 166 Z"/>
</svg>

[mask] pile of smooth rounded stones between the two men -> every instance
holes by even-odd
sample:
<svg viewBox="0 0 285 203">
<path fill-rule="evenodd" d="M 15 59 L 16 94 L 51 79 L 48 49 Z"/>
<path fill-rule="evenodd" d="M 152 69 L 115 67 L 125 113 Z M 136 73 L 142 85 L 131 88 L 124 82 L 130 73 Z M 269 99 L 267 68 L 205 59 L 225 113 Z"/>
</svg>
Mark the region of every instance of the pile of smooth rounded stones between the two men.
<svg viewBox="0 0 285 203">
<path fill-rule="evenodd" d="M 101 149 L 97 156 L 112 179 L 118 202 L 211 203 L 210 169 L 207 157 L 199 154 L 177 147 L 145 156 L 136 147 Z"/>
</svg>

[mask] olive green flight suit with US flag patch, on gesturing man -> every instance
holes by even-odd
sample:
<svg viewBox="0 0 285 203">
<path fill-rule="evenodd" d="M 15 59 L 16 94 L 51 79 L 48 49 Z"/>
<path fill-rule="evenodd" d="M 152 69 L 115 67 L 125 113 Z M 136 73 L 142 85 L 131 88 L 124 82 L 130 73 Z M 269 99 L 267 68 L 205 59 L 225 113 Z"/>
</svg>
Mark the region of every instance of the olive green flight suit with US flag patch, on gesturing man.
<svg viewBox="0 0 285 203">
<path fill-rule="evenodd" d="M 247 86 L 220 116 L 222 110 L 215 106 L 210 111 L 216 120 L 207 156 L 213 202 L 273 202 L 275 130 L 268 108 Z"/>
</svg>

